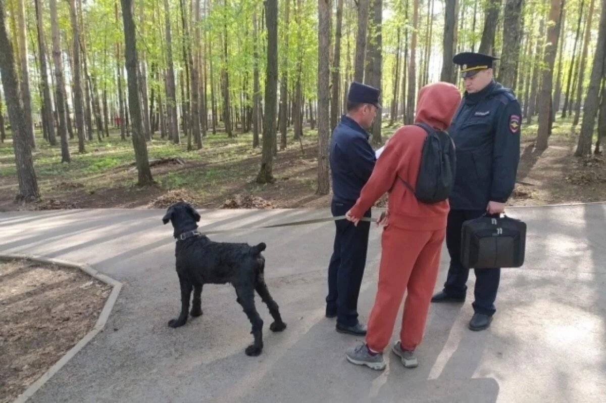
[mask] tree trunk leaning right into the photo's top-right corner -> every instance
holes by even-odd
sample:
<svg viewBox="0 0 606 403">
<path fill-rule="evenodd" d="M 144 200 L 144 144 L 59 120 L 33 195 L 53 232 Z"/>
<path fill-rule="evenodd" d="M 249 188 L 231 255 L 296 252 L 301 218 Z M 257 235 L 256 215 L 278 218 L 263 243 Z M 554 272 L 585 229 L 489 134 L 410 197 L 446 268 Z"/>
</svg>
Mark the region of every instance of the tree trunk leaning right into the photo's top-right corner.
<svg viewBox="0 0 606 403">
<path fill-rule="evenodd" d="M 585 104 L 583 106 L 581 134 L 579 135 L 576 152 L 574 152 L 574 155 L 577 157 L 588 157 L 591 155 L 591 141 L 593 138 L 593 128 L 596 123 L 596 115 L 598 115 L 599 92 L 604 76 L 604 56 L 606 56 L 606 4 L 604 3 L 602 1 L 598 42 L 596 44 L 596 53 L 593 56 L 587 97 L 585 97 Z"/>
</svg>

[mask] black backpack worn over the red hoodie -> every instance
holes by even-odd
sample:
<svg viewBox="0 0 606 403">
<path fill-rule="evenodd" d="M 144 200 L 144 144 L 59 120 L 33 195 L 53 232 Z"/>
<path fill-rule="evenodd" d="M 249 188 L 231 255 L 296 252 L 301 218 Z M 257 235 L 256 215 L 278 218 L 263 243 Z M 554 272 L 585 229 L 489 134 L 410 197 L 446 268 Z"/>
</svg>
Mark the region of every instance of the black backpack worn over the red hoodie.
<svg viewBox="0 0 606 403">
<path fill-rule="evenodd" d="M 421 164 L 415 189 L 400 178 L 416 198 L 423 203 L 446 200 L 454 186 L 456 154 L 454 143 L 445 131 L 433 129 L 425 123 L 415 123 L 427 132 L 421 151 Z"/>
</svg>

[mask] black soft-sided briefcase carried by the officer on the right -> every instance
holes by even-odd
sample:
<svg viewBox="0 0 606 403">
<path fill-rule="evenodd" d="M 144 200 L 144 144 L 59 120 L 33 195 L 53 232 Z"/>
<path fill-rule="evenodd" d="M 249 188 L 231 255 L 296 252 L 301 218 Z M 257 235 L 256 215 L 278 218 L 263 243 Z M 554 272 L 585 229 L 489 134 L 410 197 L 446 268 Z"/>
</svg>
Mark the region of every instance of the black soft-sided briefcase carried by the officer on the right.
<svg viewBox="0 0 606 403">
<path fill-rule="evenodd" d="M 483 215 L 463 223 L 461 263 L 466 268 L 520 267 L 524 264 L 526 224 Z"/>
</svg>

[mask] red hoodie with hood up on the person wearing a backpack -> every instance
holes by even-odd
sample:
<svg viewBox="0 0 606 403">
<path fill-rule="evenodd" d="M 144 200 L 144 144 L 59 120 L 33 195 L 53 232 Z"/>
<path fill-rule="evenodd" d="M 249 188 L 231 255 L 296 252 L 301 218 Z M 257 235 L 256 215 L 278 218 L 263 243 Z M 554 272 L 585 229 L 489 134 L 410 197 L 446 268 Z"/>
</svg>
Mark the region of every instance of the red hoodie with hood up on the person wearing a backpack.
<svg viewBox="0 0 606 403">
<path fill-rule="evenodd" d="M 460 102 L 461 93 L 453 84 L 429 84 L 419 91 L 415 122 L 445 130 L 450 126 Z M 425 137 L 427 132 L 418 126 L 402 126 L 395 132 L 385 144 L 358 202 L 351 208 L 353 217 L 361 218 L 379 197 L 389 192 L 389 225 L 416 231 L 435 231 L 446 227 L 450 209 L 448 201 L 431 204 L 419 202 L 401 180 L 415 187 Z"/>
</svg>

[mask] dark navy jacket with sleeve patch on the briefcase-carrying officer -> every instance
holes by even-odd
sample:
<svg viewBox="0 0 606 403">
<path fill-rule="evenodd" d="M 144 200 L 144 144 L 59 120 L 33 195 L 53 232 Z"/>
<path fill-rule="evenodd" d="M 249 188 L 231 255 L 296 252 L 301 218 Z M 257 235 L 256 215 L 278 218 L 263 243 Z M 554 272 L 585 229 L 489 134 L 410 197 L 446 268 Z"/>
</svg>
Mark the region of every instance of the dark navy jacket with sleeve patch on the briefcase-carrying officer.
<svg viewBox="0 0 606 403">
<path fill-rule="evenodd" d="M 465 93 L 448 128 L 456 147 L 451 209 L 507 202 L 518 171 L 520 124 L 520 104 L 510 89 L 493 81 L 481 92 Z"/>
</svg>

